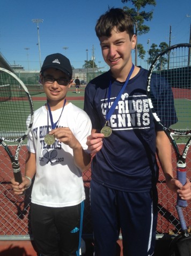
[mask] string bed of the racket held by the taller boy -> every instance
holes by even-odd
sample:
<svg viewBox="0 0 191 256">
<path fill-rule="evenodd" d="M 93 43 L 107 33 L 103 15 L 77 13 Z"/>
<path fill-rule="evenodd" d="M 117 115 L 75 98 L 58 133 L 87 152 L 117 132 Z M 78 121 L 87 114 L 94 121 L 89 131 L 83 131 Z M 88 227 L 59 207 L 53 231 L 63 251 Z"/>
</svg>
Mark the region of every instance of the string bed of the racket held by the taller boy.
<svg viewBox="0 0 191 256">
<path fill-rule="evenodd" d="M 191 127 L 191 66 L 189 47 L 160 56 L 151 74 L 151 101 L 161 123 L 177 132 Z"/>
</svg>

